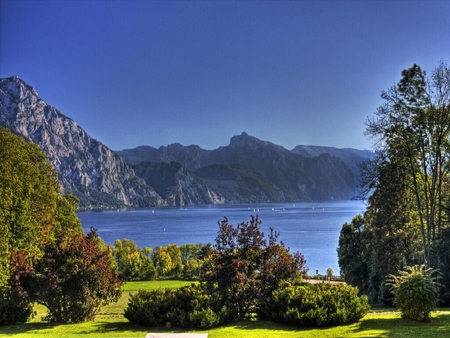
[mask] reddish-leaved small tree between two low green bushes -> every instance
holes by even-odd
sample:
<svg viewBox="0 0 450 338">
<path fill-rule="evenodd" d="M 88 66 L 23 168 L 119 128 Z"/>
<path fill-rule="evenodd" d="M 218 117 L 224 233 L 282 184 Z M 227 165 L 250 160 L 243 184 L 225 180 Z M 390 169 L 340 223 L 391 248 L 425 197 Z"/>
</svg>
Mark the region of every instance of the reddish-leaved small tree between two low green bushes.
<svg viewBox="0 0 450 338">
<path fill-rule="evenodd" d="M 248 318 L 257 312 L 259 300 L 282 282 L 291 285 L 306 274 L 303 256 L 290 255 L 282 243 L 277 244 L 273 230 L 267 245 L 260 224 L 251 216 L 235 228 L 225 217 L 214 250 L 202 265 L 200 281 L 219 299 L 215 311 L 227 309 L 227 321 Z"/>
</svg>

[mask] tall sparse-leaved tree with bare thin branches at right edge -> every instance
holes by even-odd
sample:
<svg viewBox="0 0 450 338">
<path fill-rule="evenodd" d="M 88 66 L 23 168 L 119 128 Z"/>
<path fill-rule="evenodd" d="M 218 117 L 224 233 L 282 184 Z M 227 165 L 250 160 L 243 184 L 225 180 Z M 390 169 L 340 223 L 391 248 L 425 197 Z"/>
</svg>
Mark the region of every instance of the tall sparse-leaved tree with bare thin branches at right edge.
<svg viewBox="0 0 450 338">
<path fill-rule="evenodd" d="M 401 163 L 429 267 L 431 246 L 443 227 L 443 189 L 450 169 L 450 70 L 441 61 L 426 78 L 414 64 L 381 97 L 384 104 L 367 120 L 366 134 L 376 140 L 382 162 Z"/>
</svg>

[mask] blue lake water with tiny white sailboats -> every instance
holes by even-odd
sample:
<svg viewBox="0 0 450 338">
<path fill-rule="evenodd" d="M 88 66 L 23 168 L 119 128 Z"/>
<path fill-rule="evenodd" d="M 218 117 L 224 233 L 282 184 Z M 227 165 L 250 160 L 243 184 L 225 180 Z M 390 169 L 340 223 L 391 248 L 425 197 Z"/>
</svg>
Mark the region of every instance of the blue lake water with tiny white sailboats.
<svg viewBox="0 0 450 338">
<path fill-rule="evenodd" d="M 226 216 L 237 225 L 258 215 L 265 234 L 269 227 L 280 232 L 291 252 L 305 256 L 310 274 L 324 274 L 332 268 L 339 273 L 336 248 L 342 224 L 365 210 L 363 201 L 267 203 L 163 207 L 78 213 L 83 228 L 98 229 L 106 244 L 116 239 L 132 239 L 139 247 L 167 244 L 212 243 L 219 229 L 218 222 Z"/>
</svg>

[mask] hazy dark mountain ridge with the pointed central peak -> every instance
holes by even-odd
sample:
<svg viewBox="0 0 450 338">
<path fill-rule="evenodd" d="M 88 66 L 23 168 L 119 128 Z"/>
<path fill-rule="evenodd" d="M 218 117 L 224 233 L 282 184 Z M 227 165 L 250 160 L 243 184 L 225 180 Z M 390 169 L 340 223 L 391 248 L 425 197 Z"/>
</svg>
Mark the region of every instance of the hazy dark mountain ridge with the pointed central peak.
<svg viewBox="0 0 450 338">
<path fill-rule="evenodd" d="M 222 165 L 208 170 L 211 173 L 222 171 L 222 175 L 227 175 L 225 172 L 232 169 L 235 170 L 235 174 L 237 173 L 237 168 L 230 165 L 240 165 L 239 175 L 251 171 L 266 180 L 264 183 L 261 181 L 259 185 L 264 187 L 264 196 L 252 195 L 252 198 L 258 199 L 259 202 L 348 199 L 356 194 L 355 175 L 341 159 L 329 154 L 315 157 L 301 156 L 279 145 L 249 136 L 245 132 L 232 137 L 228 146 L 215 150 L 172 144 L 158 149 L 152 147 L 127 149 L 119 151 L 118 154 L 124 160 L 132 159 L 135 163 L 144 159 L 157 162 L 177 161 L 203 178 L 207 173 L 204 169 L 207 166 Z M 251 189 L 243 188 L 242 184 L 246 180 L 242 176 L 238 179 L 239 175 L 236 175 L 237 181 L 228 180 L 226 184 L 222 181 L 222 185 L 228 185 L 227 189 L 230 189 L 231 181 L 235 186 L 240 182 L 239 186 L 242 189 L 239 195 L 244 191 L 250 193 Z M 255 177 L 253 174 L 252 176 Z M 221 181 L 211 177 L 209 179 L 216 184 L 214 191 L 229 200 L 229 195 L 226 197 L 223 195 L 227 189 L 220 190 L 221 185 L 218 182 Z"/>
</svg>

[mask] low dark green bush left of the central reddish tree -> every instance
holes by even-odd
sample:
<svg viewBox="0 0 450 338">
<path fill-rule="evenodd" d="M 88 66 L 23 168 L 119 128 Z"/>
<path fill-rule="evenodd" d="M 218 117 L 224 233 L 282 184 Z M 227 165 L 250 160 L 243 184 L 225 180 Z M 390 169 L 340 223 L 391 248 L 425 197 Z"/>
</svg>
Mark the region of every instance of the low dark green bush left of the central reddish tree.
<svg viewBox="0 0 450 338">
<path fill-rule="evenodd" d="M 207 329 L 221 322 L 210 307 L 210 296 L 194 284 L 180 289 L 139 290 L 130 295 L 124 316 L 132 323 L 148 326 Z"/>
</svg>

